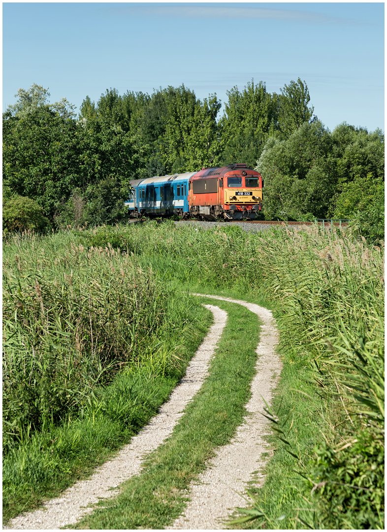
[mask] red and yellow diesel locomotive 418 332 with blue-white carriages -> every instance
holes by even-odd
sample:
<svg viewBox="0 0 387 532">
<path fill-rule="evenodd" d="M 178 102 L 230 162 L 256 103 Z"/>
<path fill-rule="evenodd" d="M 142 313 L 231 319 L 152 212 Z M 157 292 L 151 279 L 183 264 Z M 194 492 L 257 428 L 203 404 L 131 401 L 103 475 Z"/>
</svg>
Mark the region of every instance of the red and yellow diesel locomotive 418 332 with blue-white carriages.
<svg viewBox="0 0 387 532">
<path fill-rule="evenodd" d="M 132 217 L 254 219 L 262 210 L 263 179 L 245 163 L 137 179 L 125 205 Z"/>
</svg>

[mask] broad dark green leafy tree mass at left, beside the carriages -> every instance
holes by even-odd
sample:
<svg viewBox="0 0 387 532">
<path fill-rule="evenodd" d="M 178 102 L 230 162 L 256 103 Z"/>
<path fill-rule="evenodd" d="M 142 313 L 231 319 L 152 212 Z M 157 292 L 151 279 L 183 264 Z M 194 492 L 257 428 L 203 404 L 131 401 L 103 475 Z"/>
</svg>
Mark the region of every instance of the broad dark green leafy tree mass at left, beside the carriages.
<svg viewBox="0 0 387 532">
<path fill-rule="evenodd" d="M 50 220 L 74 188 L 113 176 L 128 189 L 143 156 L 130 134 L 109 120 L 77 122 L 47 105 L 21 118 L 4 114 L 3 142 L 4 184 L 36 200 Z"/>
</svg>

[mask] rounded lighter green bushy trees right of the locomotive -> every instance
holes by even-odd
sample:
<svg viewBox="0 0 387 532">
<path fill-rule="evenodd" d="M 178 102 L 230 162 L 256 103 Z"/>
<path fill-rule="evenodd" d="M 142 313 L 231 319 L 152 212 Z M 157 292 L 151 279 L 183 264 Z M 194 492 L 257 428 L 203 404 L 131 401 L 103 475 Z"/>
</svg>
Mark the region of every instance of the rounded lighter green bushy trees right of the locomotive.
<svg viewBox="0 0 387 532">
<path fill-rule="evenodd" d="M 383 217 L 377 206 L 384 179 L 383 144 L 380 131 L 368 134 L 341 124 L 331 134 L 319 121 L 304 123 L 287 139 L 268 139 L 256 165 L 265 180 L 265 216 L 352 218 L 365 209 L 376 210 L 377 225 Z M 359 203 L 361 189 L 364 201 Z"/>
</svg>

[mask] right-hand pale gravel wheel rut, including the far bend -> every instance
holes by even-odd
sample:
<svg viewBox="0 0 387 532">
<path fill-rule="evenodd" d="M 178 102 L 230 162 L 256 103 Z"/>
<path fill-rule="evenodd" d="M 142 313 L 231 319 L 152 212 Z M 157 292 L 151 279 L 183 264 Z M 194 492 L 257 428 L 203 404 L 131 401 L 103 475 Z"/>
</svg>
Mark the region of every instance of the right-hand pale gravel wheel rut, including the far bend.
<svg viewBox="0 0 387 532">
<path fill-rule="evenodd" d="M 251 383 L 251 398 L 246 405 L 249 415 L 245 417 L 245 423 L 238 428 L 231 442 L 220 447 L 217 455 L 209 460 L 207 469 L 199 476 L 199 482 L 191 485 L 191 501 L 184 516 L 168 527 L 173 530 L 224 529 L 224 520 L 230 518 L 234 509 L 248 505 L 241 496 L 246 491 L 248 481 L 254 479 L 256 486 L 263 485 L 264 476 L 259 471 L 265 465 L 261 456 L 267 451 L 264 436 L 268 433 L 270 422 L 260 412 L 265 408 L 263 397 L 271 404 L 273 389 L 282 369 L 281 360 L 275 353 L 278 334 L 270 310 L 231 298 L 208 297 L 239 303 L 262 320 L 260 342 L 256 350 L 259 355 L 257 373 Z"/>
</svg>

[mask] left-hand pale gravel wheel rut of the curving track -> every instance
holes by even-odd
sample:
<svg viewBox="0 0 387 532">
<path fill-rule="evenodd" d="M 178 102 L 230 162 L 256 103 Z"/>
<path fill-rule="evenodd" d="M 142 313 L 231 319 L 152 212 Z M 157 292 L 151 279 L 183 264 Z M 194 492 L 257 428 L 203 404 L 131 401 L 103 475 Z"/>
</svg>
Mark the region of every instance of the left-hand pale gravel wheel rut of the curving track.
<svg viewBox="0 0 387 532">
<path fill-rule="evenodd" d="M 172 434 L 184 408 L 192 401 L 208 375 L 208 365 L 222 335 L 227 313 L 217 306 L 205 306 L 214 315 L 214 325 L 192 358 L 186 375 L 174 389 L 170 400 L 163 404 L 150 423 L 113 460 L 98 468 L 92 477 L 66 489 L 61 497 L 48 501 L 43 509 L 11 519 L 4 528 L 57 530 L 66 525 L 74 525 L 81 517 L 93 511 L 87 506 L 97 503 L 101 498 L 116 495 L 124 480 L 140 473 L 145 456 Z"/>
</svg>

